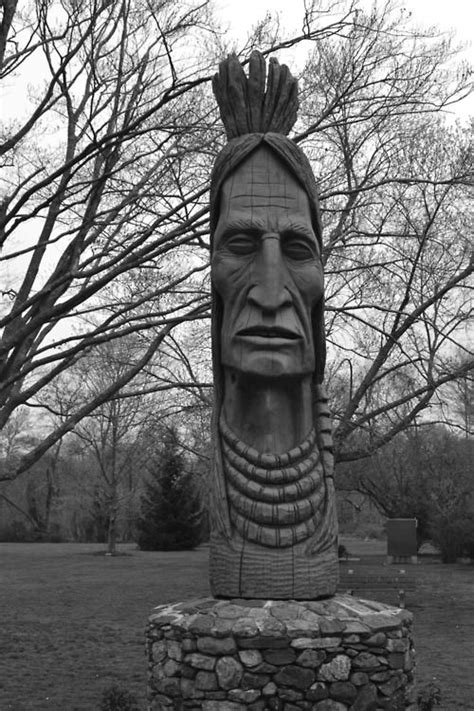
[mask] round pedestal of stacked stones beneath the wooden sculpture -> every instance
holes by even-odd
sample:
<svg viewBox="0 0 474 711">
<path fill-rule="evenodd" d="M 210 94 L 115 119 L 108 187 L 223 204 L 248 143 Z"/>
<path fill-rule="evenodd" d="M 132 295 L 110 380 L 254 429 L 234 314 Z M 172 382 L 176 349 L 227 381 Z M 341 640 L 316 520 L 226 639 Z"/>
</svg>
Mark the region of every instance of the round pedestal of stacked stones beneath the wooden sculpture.
<svg viewBox="0 0 474 711">
<path fill-rule="evenodd" d="M 162 605 L 147 630 L 148 708 L 414 711 L 411 623 L 348 595 Z"/>
</svg>

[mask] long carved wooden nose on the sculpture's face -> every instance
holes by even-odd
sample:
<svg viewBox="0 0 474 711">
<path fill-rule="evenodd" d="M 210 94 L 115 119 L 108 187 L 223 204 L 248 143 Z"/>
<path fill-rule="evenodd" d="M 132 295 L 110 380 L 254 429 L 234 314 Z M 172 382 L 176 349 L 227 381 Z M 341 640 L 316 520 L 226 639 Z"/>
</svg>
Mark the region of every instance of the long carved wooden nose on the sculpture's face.
<svg viewBox="0 0 474 711">
<path fill-rule="evenodd" d="M 291 303 L 278 235 L 263 235 L 253 277 L 254 285 L 248 293 L 251 304 L 263 311 L 277 311 Z"/>
</svg>

